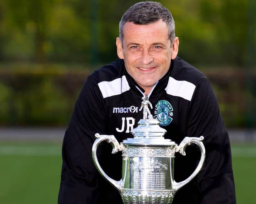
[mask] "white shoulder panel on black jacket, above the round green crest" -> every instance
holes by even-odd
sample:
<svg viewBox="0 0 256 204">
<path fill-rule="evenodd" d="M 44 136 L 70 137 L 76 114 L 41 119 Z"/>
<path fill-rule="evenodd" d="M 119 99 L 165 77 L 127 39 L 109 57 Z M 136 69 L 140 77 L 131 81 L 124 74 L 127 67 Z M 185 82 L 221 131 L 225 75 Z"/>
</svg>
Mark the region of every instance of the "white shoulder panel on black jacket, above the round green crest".
<svg viewBox="0 0 256 204">
<path fill-rule="evenodd" d="M 165 91 L 169 95 L 179 96 L 188 101 L 191 101 L 195 88 L 196 86 L 190 82 L 178 81 L 172 77 L 169 77 Z"/>
</svg>

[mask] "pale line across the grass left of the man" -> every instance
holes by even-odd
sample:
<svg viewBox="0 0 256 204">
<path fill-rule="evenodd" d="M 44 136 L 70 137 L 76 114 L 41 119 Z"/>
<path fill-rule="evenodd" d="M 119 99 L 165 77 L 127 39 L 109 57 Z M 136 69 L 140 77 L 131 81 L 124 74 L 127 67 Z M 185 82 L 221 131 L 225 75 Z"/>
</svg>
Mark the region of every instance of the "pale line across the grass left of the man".
<svg viewBox="0 0 256 204">
<path fill-rule="evenodd" d="M 0 155 L 61 156 L 61 146 L 0 146 Z"/>
</svg>

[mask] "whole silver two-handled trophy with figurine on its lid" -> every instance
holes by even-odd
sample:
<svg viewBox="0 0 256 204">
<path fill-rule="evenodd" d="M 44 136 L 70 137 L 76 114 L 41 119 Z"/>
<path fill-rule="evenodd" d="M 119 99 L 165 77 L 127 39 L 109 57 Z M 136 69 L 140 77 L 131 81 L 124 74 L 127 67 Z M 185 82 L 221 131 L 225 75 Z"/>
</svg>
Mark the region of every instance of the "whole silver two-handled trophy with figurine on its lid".
<svg viewBox="0 0 256 204">
<path fill-rule="evenodd" d="M 182 186 L 190 182 L 202 168 L 205 159 L 204 137 L 185 137 L 180 145 L 170 139 L 164 139 L 166 130 L 153 119 L 148 105 L 148 98 L 142 98 L 140 110 L 143 108 L 143 119 L 138 127 L 130 132 L 134 138 L 128 138 L 120 144 L 113 135 L 95 134 L 92 147 L 94 164 L 101 175 L 120 192 L 124 204 L 171 204 L 172 199 Z M 99 143 L 111 143 L 112 154 L 122 151 L 123 166 L 120 181 L 110 178 L 101 168 L 96 156 Z M 197 168 L 181 182 L 174 180 L 174 158 L 179 152 L 186 155 L 185 148 L 197 144 L 201 150 L 201 158 Z"/>
</svg>

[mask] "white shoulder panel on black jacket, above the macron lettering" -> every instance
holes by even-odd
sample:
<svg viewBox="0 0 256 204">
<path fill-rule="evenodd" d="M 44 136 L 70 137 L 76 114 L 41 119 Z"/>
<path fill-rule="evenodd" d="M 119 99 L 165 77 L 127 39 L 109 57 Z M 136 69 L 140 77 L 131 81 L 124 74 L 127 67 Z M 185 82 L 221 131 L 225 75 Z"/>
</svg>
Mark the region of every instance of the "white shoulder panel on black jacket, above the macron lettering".
<svg viewBox="0 0 256 204">
<path fill-rule="evenodd" d="M 130 90 L 130 86 L 125 75 L 123 75 L 122 78 L 115 79 L 111 82 L 100 82 L 98 83 L 98 86 L 101 90 L 103 98 L 116 96 Z"/>
</svg>

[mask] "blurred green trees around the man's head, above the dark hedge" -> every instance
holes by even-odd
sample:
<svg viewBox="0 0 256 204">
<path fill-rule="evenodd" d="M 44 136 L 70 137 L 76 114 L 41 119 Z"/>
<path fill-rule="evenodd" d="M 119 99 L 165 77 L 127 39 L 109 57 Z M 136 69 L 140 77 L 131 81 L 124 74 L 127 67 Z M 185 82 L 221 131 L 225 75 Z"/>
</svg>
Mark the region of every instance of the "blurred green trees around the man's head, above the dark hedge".
<svg viewBox="0 0 256 204">
<path fill-rule="evenodd" d="M 135 2 L 2 0 L 0 59 L 111 62 L 117 58 L 118 23 Z M 180 38 L 179 55 L 188 62 L 245 65 L 249 47 L 255 55 L 253 0 L 159 2 L 172 12 Z"/>
</svg>

